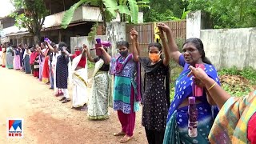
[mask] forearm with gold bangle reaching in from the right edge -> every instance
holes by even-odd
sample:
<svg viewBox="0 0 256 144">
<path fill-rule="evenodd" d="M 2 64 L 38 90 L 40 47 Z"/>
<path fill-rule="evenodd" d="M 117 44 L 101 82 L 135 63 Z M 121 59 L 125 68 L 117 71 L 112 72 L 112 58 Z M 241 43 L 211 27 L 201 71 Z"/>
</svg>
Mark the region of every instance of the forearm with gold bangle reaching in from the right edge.
<svg viewBox="0 0 256 144">
<path fill-rule="evenodd" d="M 206 85 L 208 96 L 214 100 L 218 108 L 222 108 L 224 103 L 231 97 L 230 94 L 223 90 L 221 86 L 218 86 L 214 79 L 210 78 L 201 68 L 190 66 L 190 70 L 189 75 L 193 74 L 196 78 L 200 79 Z"/>
</svg>

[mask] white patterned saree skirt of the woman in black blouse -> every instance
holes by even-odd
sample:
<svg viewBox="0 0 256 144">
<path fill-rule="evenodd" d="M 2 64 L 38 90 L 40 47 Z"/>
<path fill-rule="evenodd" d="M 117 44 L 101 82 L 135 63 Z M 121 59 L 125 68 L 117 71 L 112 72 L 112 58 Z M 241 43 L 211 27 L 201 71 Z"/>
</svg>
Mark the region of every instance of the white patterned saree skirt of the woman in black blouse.
<svg viewBox="0 0 256 144">
<path fill-rule="evenodd" d="M 92 94 L 88 103 L 88 118 L 109 118 L 109 80 L 110 78 L 107 71 L 98 71 L 94 76 Z"/>
</svg>

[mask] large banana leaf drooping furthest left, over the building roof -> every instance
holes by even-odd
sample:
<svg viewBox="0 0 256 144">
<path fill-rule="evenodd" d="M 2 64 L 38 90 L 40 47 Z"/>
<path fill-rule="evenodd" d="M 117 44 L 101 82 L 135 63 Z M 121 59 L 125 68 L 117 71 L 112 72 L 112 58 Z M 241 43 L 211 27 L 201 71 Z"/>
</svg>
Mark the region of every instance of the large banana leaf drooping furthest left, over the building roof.
<svg viewBox="0 0 256 144">
<path fill-rule="evenodd" d="M 73 6 L 70 7 L 69 10 L 65 11 L 65 14 L 62 18 L 62 28 L 66 29 L 67 26 L 69 26 L 70 22 L 72 21 L 73 15 L 74 15 L 74 10 L 76 10 L 79 6 L 82 4 L 87 4 L 91 2 L 90 0 L 80 0 L 79 2 L 75 3 Z"/>
</svg>

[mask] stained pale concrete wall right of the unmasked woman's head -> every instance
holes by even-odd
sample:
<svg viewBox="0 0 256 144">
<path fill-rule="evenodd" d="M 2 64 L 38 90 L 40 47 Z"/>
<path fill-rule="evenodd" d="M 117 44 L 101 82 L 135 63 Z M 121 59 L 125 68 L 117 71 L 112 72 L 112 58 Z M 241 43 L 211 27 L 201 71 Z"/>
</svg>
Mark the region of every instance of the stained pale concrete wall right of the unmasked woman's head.
<svg viewBox="0 0 256 144">
<path fill-rule="evenodd" d="M 218 69 L 256 69 L 256 28 L 201 30 L 206 57 Z"/>
</svg>

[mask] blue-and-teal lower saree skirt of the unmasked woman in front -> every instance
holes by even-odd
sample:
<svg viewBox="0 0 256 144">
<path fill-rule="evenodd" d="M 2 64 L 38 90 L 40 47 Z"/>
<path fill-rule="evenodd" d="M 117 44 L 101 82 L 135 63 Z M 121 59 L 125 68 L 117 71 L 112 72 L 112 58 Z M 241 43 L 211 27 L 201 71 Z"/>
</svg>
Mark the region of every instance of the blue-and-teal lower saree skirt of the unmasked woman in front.
<svg viewBox="0 0 256 144">
<path fill-rule="evenodd" d="M 165 138 L 163 143 L 210 143 L 208 134 L 214 122 L 214 118 L 209 111 L 212 107 L 205 103 L 197 104 L 198 109 L 198 136 L 190 138 L 188 135 L 188 106 L 175 110 L 166 125 Z"/>
</svg>

